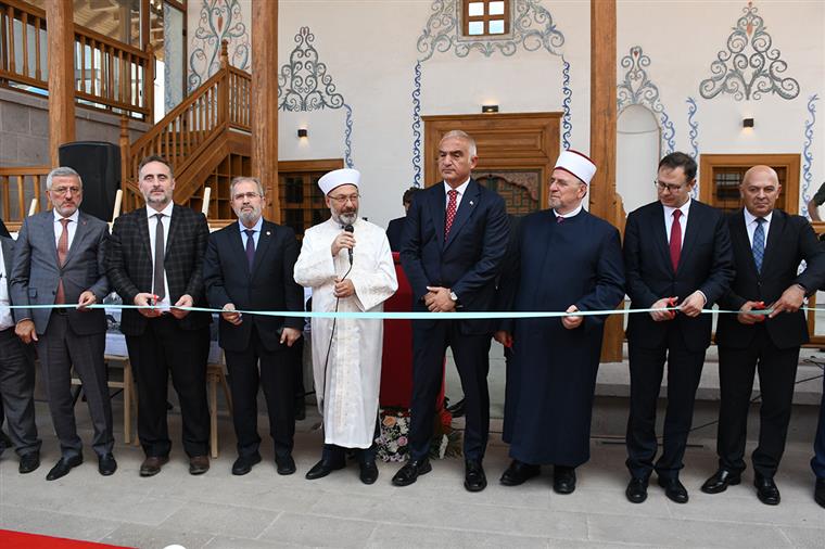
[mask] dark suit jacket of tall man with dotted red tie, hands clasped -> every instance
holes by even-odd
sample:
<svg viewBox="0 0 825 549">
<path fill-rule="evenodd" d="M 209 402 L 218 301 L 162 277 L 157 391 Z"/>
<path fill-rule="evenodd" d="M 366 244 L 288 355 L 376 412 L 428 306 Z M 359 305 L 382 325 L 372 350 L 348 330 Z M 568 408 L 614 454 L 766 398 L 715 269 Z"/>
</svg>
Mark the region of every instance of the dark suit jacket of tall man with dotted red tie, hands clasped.
<svg viewBox="0 0 825 549">
<path fill-rule="evenodd" d="M 493 310 L 496 277 L 507 250 L 504 200 L 471 179 L 446 241 L 445 210 L 444 183 L 439 182 L 416 193 L 407 213 L 401 261 L 412 286 L 414 310 L 427 310 L 422 299 L 428 285 L 452 289 L 465 311 Z M 492 332 L 495 327 L 495 320 L 461 323 L 468 334 Z"/>
</svg>

